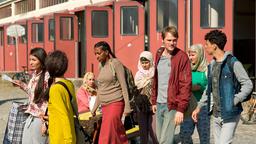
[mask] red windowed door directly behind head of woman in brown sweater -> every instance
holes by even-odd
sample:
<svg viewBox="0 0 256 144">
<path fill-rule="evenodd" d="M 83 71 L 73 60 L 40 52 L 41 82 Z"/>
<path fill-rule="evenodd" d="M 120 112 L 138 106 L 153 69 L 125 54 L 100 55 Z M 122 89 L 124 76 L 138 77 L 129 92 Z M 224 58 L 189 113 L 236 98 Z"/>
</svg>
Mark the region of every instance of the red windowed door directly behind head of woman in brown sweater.
<svg viewBox="0 0 256 144">
<path fill-rule="evenodd" d="M 113 48 L 113 13 L 110 7 L 85 7 L 86 27 L 86 71 L 98 74 L 98 61 L 94 45 L 106 41 Z"/>
</svg>

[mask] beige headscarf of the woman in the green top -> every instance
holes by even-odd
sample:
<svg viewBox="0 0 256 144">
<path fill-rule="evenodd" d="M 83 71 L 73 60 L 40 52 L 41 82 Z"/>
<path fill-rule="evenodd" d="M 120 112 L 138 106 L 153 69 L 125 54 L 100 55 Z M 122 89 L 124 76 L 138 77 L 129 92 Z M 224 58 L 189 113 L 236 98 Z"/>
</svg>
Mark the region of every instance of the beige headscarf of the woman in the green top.
<svg viewBox="0 0 256 144">
<path fill-rule="evenodd" d="M 203 45 L 202 44 L 192 45 L 188 49 L 188 52 L 197 53 L 197 63 L 196 64 L 191 63 L 192 71 L 206 72 L 208 63 L 204 53 Z"/>
</svg>

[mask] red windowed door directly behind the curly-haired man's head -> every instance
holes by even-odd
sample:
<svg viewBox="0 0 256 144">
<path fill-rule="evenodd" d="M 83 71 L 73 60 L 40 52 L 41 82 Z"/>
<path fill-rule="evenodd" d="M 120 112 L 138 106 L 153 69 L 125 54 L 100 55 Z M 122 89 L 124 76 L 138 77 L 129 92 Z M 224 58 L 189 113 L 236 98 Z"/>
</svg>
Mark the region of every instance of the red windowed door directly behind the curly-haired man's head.
<svg viewBox="0 0 256 144">
<path fill-rule="evenodd" d="M 227 35 L 225 50 L 233 50 L 233 1 L 191 0 L 191 3 L 191 43 L 204 44 L 204 35 L 212 29 L 219 29 Z"/>
</svg>

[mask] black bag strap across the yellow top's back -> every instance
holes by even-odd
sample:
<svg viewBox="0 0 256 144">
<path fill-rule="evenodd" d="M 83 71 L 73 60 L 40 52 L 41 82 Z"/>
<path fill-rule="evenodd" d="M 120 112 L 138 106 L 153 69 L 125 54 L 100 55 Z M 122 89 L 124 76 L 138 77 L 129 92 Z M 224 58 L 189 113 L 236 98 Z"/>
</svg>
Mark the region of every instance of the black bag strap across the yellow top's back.
<svg viewBox="0 0 256 144">
<path fill-rule="evenodd" d="M 62 81 L 58 81 L 58 82 L 56 82 L 55 84 L 60 84 L 60 85 L 62 85 L 62 86 L 67 90 L 68 95 L 69 95 L 69 99 L 70 99 L 70 103 L 71 103 L 71 106 L 72 106 L 72 109 L 73 109 L 73 112 L 75 113 L 75 116 L 76 116 L 76 117 L 75 117 L 75 121 L 77 121 L 77 123 L 78 123 L 78 125 L 79 125 L 79 129 L 83 132 L 83 134 L 84 134 L 84 136 L 85 136 L 85 139 L 86 139 L 85 141 L 91 142 L 90 136 L 87 134 L 87 132 L 85 132 L 84 128 L 81 126 L 81 124 L 80 124 L 80 122 L 79 122 L 79 119 L 78 119 L 78 112 L 76 111 L 75 106 L 74 106 L 73 103 L 72 103 L 72 94 L 70 93 L 70 91 L 69 91 L 67 85 L 66 85 L 64 82 L 62 82 Z"/>
</svg>

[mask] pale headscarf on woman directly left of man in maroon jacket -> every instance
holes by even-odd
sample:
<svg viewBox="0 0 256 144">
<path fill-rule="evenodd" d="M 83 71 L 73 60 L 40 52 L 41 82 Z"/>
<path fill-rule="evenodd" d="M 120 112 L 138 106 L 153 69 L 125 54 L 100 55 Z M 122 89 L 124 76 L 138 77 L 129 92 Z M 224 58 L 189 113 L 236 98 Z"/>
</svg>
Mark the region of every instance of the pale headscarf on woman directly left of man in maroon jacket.
<svg viewBox="0 0 256 144">
<path fill-rule="evenodd" d="M 144 70 L 143 67 L 141 66 L 140 59 L 144 57 L 150 62 L 150 68 L 149 70 Z M 135 74 L 135 85 L 137 86 L 138 89 L 141 89 L 145 87 L 152 79 L 154 76 L 154 62 L 153 62 L 153 55 L 149 51 L 143 51 L 140 54 L 139 62 L 138 62 L 138 71 Z"/>
</svg>

